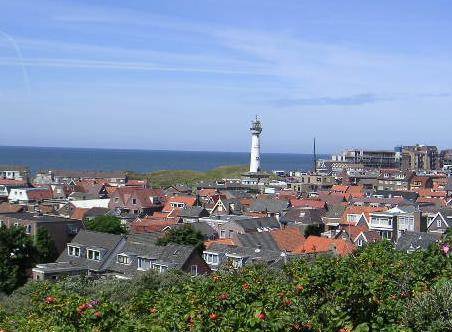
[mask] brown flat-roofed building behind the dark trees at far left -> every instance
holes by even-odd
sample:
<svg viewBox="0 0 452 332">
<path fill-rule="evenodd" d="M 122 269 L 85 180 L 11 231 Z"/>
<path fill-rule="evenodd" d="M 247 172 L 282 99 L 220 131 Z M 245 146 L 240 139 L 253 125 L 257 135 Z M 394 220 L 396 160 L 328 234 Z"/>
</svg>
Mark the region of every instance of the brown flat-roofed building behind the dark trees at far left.
<svg viewBox="0 0 452 332">
<path fill-rule="evenodd" d="M 0 213 L 0 225 L 8 228 L 24 227 L 25 232 L 32 237 L 36 237 L 40 229 L 46 229 L 58 252 L 61 252 L 79 230 L 84 228 L 83 223 L 78 220 L 29 212 Z"/>
</svg>

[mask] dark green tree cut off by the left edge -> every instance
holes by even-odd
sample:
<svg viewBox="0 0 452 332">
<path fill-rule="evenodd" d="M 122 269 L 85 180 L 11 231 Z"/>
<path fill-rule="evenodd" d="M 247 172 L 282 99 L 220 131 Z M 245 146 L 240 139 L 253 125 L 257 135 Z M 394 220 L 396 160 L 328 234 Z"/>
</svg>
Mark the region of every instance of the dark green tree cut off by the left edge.
<svg viewBox="0 0 452 332">
<path fill-rule="evenodd" d="M 0 292 L 12 293 L 27 281 L 36 250 L 23 227 L 0 227 Z"/>
</svg>

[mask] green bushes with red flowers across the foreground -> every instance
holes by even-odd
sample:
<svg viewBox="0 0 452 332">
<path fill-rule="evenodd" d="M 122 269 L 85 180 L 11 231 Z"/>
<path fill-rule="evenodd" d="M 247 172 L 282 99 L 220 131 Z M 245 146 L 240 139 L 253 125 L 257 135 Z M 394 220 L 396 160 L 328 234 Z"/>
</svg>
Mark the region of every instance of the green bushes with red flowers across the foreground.
<svg viewBox="0 0 452 332">
<path fill-rule="evenodd" d="M 347 257 L 192 278 L 34 282 L 0 302 L 7 331 L 449 331 L 450 253 L 370 244 Z M 448 325 L 449 324 L 449 325 Z"/>
</svg>

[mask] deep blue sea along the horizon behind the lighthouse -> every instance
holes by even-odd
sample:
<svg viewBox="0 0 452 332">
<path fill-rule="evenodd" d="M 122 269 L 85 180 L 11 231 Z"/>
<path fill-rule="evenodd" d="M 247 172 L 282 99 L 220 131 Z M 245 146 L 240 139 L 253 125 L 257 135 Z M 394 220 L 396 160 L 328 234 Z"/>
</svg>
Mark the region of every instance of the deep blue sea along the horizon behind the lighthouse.
<svg viewBox="0 0 452 332">
<path fill-rule="evenodd" d="M 0 165 L 27 166 L 33 173 L 47 169 L 138 173 L 175 169 L 207 171 L 219 166 L 247 165 L 249 158 L 246 152 L 0 146 Z M 318 158 L 329 156 L 320 154 Z M 263 153 L 261 166 L 266 171 L 308 171 L 313 168 L 313 155 Z"/>
</svg>

